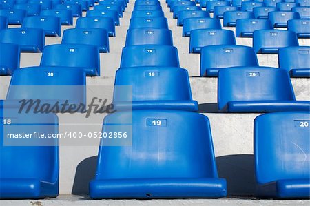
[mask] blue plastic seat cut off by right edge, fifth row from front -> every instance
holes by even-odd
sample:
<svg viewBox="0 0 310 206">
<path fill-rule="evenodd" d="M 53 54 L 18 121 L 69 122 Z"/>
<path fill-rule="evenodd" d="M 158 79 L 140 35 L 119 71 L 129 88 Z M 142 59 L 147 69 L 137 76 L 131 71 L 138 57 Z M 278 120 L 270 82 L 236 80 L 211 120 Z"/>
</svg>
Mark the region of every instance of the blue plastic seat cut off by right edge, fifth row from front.
<svg viewBox="0 0 310 206">
<path fill-rule="evenodd" d="M 310 38 L 310 19 L 291 19 L 287 21 L 287 28 L 298 38 Z"/>
</svg>

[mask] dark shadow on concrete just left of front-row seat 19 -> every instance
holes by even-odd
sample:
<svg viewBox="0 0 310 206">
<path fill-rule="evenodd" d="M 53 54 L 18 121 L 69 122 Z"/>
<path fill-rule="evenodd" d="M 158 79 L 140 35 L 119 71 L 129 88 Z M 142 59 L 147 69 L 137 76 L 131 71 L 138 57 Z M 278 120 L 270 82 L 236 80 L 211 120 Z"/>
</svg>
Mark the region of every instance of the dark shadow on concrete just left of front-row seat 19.
<svg viewBox="0 0 310 206">
<path fill-rule="evenodd" d="M 88 194 L 88 185 L 96 174 L 97 156 L 85 158 L 76 167 L 72 194 L 85 196 Z"/>
</svg>

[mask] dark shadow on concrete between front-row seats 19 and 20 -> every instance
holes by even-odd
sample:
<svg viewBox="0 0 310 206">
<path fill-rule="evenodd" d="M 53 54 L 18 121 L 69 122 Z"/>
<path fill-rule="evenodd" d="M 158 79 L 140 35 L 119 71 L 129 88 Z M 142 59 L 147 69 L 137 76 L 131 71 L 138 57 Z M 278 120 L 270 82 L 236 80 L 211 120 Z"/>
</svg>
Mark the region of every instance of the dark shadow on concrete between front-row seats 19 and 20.
<svg viewBox="0 0 310 206">
<path fill-rule="evenodd" d="M 227 196 L 256 196 L 254 155 L 236 154 L 216 158 L 218 176 L 227 181 Z"/>
</svg>

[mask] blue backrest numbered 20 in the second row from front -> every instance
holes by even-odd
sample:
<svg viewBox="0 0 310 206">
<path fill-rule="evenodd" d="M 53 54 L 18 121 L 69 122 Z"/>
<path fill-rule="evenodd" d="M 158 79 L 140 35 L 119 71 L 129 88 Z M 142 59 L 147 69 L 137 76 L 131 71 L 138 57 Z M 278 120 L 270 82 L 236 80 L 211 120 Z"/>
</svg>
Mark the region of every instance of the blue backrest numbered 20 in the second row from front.
<svg viewBox="0 0 310 206">
<path fill-rule="evenodd" d="M 218 72 L 218 107 L 230 101 L 293 101 L 286 70 L 263 67 L 226 68 Z"/>
</svg>

